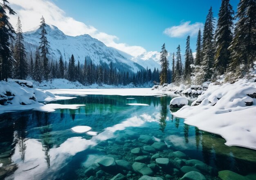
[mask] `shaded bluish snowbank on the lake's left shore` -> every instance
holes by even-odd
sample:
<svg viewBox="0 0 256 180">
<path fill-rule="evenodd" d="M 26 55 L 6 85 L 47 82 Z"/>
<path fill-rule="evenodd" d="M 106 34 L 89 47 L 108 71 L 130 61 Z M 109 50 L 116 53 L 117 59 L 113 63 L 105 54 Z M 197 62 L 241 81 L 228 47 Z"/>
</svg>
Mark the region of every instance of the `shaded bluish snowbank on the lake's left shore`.
<svg viewBox="0 0 256 180">
<path fill-rule="evenodd" d="M 40 111 L 54 111 L 54 109 L 77 109 L 78 105 L 61 104 L 42 104 L 40 102 L 49 102 L 61 99 L 70 99 L 74 97 L 54 96 L 48 91 L 40 91 L 32 87 L 32 83 L 25 80 L 12 80 L 8 82 L 0 81 L 0 113 L 35 109 Z"/>
</svg>

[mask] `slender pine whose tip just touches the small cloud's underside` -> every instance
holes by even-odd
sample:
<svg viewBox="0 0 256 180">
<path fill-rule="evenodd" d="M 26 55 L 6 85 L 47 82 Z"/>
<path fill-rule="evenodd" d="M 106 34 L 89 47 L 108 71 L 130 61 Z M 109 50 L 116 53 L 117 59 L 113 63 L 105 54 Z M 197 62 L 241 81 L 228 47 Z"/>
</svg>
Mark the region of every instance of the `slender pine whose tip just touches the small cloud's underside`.
<svg viewBox="0 0 256 180">
<path fill-rule="evenodd" d="M 184 79 L 188 80 L 191 76 L 191 54 L 190 54 L 190 36 L 186 38 L 186 50 L 185 50 L 185 67 L 184 67 Z"/>
</svg>

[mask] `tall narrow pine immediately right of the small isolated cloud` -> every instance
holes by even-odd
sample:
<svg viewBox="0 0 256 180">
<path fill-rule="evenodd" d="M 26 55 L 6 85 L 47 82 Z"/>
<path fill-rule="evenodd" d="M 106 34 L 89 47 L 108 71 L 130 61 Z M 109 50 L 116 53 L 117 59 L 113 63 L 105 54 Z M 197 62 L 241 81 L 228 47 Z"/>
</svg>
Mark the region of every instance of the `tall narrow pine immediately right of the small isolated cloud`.
<svg viewBox="0 0 256 180">
<path fill-rule="evenodd" d="M 214 23 L 212 7 L 209 9 L 209 13 L 206 17 L 204 24 L 203 33 L 203 44 L 202 44 L 202 69 L 203 69 L 203 80 L 211 80 L 213 74 L 212 67 L 214 62 Z"/>
</svg>

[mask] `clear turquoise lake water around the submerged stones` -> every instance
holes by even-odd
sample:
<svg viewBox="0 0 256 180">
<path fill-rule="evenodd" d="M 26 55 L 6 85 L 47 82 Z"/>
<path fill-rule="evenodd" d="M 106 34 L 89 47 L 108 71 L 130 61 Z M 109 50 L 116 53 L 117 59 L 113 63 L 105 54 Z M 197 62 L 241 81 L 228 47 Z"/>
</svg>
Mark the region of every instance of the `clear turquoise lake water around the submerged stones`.
<svg viewBox="0 0 256 180">
<path fill-rule="evenodd" d="M 168 148 L 157 151 L 163 158 L 175 161 L 184 159 L 184 162 L 197 159 L 208 164 L 209 171 L 201 172 L 210 180 L 219 179 L 220 170 L 231 170 L 243 176 L 256 173 L 256 151 L 227 147 L 220 136 L 186 125 L 183 119 L 173 118 L 168 107 L 170 100 L 168 96 L 77 96 L 75 99 L 52 103 L 86 104 L 85 107 L 76 110 L 58 109 L 51 113 L 4 113 L 0 115 L 0 164 L 18 165 L 6 179 L 86 180 L 94 176 L 95 180 L 107 180 L 122 173 L 125 176 L 128 174 L 128 179 L 137 180 L 141 174 L 119 166 L 115 167 L 115 171 L 103 169 L 105 172 L 102 177 L 99 173 L 96 176 L 96 172 L 102 169 L 97 164 L 100 158 L 108 156 L 133 164 L 137 155 L 130 150 L 136 147 L 143 150 L 145 145 L 152 144 L 126 136 L 127 131 L 165 142 Z M 150 106 L 130 106 L 127 103 Z M 73 132 L 71 128 L 78 125 L 89 126 L 98 135 Z M 174 151 L 182 151 L 186 157 L 170 156 Z M 148 157 L 155 154 L 143 153 Z M 145 163 L 155 161 L 146 160 Z M 90 167 L 94 171 L 86 172 Z M 180 170 L 181 167 L 176 169 Z M 183 174 L 181 171 L 174 173 L 173 167 L 168 167 L 154 171 L 153 176 L 167 180 L 179 179 Z"/>
</svg>

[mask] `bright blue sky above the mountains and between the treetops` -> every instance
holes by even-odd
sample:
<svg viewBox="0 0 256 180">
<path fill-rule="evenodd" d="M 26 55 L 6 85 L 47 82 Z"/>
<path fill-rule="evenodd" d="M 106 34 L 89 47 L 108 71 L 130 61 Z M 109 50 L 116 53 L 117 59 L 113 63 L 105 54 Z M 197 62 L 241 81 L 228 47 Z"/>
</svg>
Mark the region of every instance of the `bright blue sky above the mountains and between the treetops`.
<svg viewBox="0 0 256 180">
<path fill-rule="evenodd" d="M 239 0 L 231 0 L 236 11 Z M 115 35 L 118 42 L 160 51 L 166 43 L 168 52 L 176 52 L 178 44 L 185 48 L 186 36 L 169 37 L 163 33 L 168 27 L 182 22 L 204 23 L 209 8 L 218 17 L 221 0 L 54 0 L 67 16 L 92 25 L 99 31 Z M 196 34 L 191 37 L 195 51 Z"/>
</svg>

